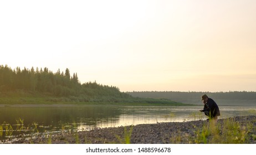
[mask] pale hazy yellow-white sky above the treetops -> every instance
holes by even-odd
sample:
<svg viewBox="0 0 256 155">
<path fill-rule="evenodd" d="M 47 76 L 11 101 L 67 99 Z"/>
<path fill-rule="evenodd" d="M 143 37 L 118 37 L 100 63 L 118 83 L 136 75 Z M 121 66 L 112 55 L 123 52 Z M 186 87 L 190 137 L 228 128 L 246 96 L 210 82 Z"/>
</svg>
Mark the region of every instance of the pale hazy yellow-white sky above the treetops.
<svg viewBox="0 0 256 155">
<path fill-rule="evenodd" d="M 121 91 L 256 91 L 256 1 L 2 1 L 0 64 Z"/>
</svg>

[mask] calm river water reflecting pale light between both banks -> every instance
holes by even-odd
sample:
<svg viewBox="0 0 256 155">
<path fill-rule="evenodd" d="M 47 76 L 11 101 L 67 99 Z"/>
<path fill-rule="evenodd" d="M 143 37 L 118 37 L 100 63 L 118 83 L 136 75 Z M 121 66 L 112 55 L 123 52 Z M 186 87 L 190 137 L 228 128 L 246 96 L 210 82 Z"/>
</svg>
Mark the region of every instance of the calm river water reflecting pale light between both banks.
<svg viewBox="0 0 256 155">
<path fill-rule="evenodd" d="M 30 133 L 206 120 L 202 106 L 0 106 L 0 139 Z M 256 106 L 220 106 L 221 117 L 256 115 Z M 7 134 L 6 134 L 7 132 Z"/>
</svg>

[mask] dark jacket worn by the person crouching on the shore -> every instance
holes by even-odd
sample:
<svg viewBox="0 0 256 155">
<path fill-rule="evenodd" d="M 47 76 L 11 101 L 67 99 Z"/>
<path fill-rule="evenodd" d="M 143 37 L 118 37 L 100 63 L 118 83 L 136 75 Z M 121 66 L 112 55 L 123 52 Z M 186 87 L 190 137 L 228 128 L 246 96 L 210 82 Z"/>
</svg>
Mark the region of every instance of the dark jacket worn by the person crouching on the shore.
<svg viewBox="0 0 256 155">
<path fill-rule="evenodd" d="M 221 116 L 218 105 L 211 98 L 208 98 L 206 105 L 204 105 L 203 112 L 204 111 L 209 111 L 212 117 Z"/>
</svg>

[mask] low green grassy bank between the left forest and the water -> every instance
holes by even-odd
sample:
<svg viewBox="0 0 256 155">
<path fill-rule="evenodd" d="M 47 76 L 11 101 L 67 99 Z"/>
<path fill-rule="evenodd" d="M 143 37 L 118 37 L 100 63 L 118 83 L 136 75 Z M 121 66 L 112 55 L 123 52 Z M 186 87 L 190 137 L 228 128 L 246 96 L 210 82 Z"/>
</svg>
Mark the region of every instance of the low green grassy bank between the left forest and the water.
<svg viewBox="0 0 256 155">
<path fill-rule="evenodd" d="M 182 104 L 167 99 L 150 99 L 150 98 L 139 98 L 139 97 L 126 97 L 110 99 L 109 97 L 94 97 L 83 101 L 82 96 L 68 96 L 58 97 L 49 93 L 39 92 L 28 92 L 28 91 L 13 91 L 13 92 L 1 92 L 0 91 L 0 104 L 3 105 L 22 105 L 22 104 L 107 104 L 107 105 L 162 105 L 162 106 L 184 106 L 188 104 Z"/>
</svg>

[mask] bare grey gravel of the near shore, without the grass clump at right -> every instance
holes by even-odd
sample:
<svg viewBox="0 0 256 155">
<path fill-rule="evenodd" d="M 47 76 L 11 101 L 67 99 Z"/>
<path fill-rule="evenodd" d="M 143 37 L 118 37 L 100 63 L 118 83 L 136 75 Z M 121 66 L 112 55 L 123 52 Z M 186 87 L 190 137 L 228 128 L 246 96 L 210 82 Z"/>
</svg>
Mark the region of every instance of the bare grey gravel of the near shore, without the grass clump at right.
<svg viewBox="0 0 256 155">
<path fill-rule="evenodd" d="M 237 116 L 217 120 L 219 126 L 224 121 L 238 122 L 248 135 L 244 143 L 256 143 L 256 116 Z M 126 127 L 96 128 L 91 131 L 63 132 L 47 136 L 7 139 L 0 143 L 197 143 L 198 130 L 209 121 L 167 122 Z M 246 126 L 250 124 L 248 129 Z M 221 128 L 220 127 L 220 128 Z M 234 129 L 238 130 L 238 129 Z M 222 131 L 219 131 L 220 133 Z"/>
</svg>

